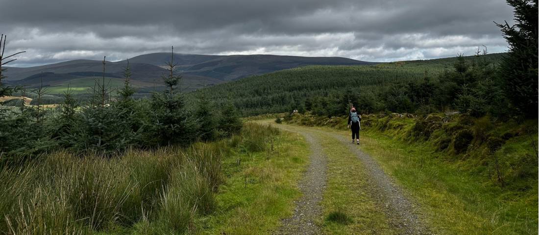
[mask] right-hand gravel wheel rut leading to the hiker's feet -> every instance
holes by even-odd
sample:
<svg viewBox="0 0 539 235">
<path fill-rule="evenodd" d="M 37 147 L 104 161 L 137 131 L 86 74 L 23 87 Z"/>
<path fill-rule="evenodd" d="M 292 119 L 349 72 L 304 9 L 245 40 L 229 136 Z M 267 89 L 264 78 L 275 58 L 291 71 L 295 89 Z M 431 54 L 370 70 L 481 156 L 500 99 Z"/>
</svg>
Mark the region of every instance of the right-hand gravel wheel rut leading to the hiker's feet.
<svg viewBox="0 0 539 235">
<path fill-rule="evenodd" d="M 383 207 L 390 224 L 399 230 L 399 234 L 432 234 L 418 219 L 417 205 L 406 198 L 403 191 L 384 173 L 378 162 L 361 151 L 359 146 L 352 144 L 350 139 L 340 134 L 332 133 L 331 136 L 340 140 L 343 145 L 348 145 L 350 151 L 361 160 L 370 176 L 368 183 L 372 197 Z"/>
</svg>

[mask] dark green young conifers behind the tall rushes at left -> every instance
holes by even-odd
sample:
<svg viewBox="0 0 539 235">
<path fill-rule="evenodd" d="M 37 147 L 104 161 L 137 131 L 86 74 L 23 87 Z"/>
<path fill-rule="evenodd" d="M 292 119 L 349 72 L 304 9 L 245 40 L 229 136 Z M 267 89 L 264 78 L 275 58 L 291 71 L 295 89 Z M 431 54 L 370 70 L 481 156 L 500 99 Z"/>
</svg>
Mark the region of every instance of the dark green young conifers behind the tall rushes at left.
<svg viewBox="0 0 539 235">
<path fill-rule="evenodd" d="M 6 36 L 2 35 L 0 52 L 5 48 L 5 40 Z M 6 60 L 10 56 L 2 56 L 2 65 L 13 61 Z M 187 102 L 179 90 L 182 77 L 176 73 L 177 64 L 172 58 L 168 62 L 168 74 L 162 76 L 167 89 L 154 92 L 149 98 L 133 98 L 135 90 L 130 83 L 129 63 L 123 74 L 124 86 L 110 89 L 103 59 L 103 76 L 95 79 L 87 101 L 79 101 L 67 89 L 60 105 L 46 108 L 43 102 L 46 88 L 39 87 L 31 91 L 34 105 L 0 105 L 1 159 L 18 161 L 55 149 L 112 155 L 127 148 L 185 146 L 197 140 L 215 140 L 239 132 L 242 123 L 232 103 L 217 109 L 203 95 L 197 102 Z M 5 68 L 0 69 L 5 71 Z M 0 97 L 28 92 L 21 86 L 6 86 L 1 72 Z"/>
</svg>

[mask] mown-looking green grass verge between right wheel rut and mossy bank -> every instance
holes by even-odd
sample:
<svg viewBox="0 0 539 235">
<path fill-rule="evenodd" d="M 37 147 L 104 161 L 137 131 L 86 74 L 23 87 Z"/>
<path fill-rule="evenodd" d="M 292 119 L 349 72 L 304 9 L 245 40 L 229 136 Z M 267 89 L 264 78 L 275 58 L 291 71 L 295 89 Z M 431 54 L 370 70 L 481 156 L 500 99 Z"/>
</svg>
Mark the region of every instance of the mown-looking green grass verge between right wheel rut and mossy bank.
<svg viewBox="0 0 539 235">
<path fill-rule="evenodd" d="M 363 132 L 362 149 L 421 204 L 439 234 L 537 234 L 537 186 L 528 196 L 447 164 L 427 144 Z"/>
</svg>

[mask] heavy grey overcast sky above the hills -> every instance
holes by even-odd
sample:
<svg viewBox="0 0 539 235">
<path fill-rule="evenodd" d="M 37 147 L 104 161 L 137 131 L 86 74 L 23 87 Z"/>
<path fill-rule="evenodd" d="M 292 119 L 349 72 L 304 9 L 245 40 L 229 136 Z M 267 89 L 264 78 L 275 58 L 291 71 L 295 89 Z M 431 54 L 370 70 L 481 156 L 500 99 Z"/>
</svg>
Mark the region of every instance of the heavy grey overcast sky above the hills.
<svg viewBox="0 0 539 235">
<path fill-rule="evenodd" d="M 0 0 L 10 66 L 195 54 L 342 56 L 364 61 L 489 53 L 507 44 L 503 0 Z M 6 53 L 9 53 L 6 51 Z"/>
</svg>

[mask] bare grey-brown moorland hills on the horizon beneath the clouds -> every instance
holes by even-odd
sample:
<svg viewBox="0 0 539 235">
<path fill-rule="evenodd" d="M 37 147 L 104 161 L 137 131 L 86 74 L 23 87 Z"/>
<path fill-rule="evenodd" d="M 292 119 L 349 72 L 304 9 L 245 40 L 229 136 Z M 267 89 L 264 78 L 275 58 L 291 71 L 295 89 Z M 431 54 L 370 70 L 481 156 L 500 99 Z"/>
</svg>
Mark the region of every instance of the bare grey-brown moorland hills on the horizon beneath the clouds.
<svg viewBox="0 0 539 235">
<path fill-rule="evenodd" d="M 140 92 L 148 92 L 153 87 L 162 87 L 161 76 L 167 73 L 164 69 L 170 60 L 170 53 L 151 53 L 129 59 L 133 73 L 133 81 Z M 213 86 L 241 77 L 260 75 L 307 65 L 372 65 L 364 62 L 340 57 L 302 57 L 283 55 L 197 55 L 174 54 L 174 62 L 183 77 L 182 89 L 193 90 L 203 86 Z M 105 76 L 108 79 L 121 79 L 127 61 L 106 62 Z M 41 74 L 43 73 L 43 74 Z M 71 60 L 51 65 L 17 68 L 9 67 L 5 72 L 5 80 L 11 84 L 72 88 L 87 86 L 86 80 L 101 77 L 102 62 L 97 60 Z M 82 82 L 86 81 L 86 82 Z M 117 84 L 118 81 L 115 81 Z M 61 89 L 53 89 L 54 91 Z M 78 90 L 85 90 L 80 87 Z"/>
</svg>

